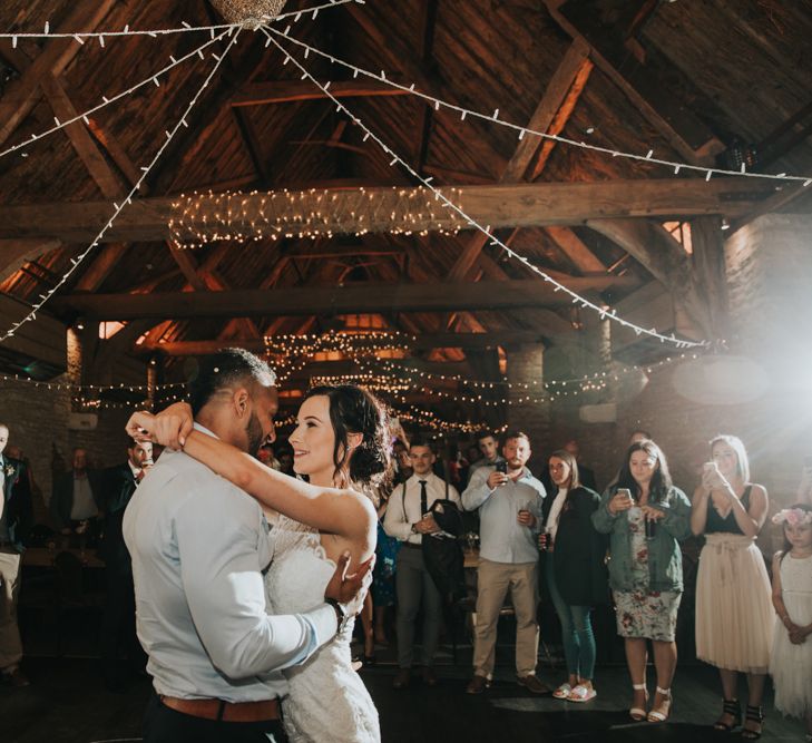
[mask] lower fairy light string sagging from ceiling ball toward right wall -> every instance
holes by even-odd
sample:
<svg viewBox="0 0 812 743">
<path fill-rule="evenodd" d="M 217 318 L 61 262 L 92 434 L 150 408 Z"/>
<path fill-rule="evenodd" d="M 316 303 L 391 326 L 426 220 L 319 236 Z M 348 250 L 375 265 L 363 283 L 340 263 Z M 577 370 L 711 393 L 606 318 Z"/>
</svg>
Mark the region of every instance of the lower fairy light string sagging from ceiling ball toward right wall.
<svg viewBox="0 0 812 743">
<path fill-rule="evenodd" d="M 263 27 L 265 28 L 265 27 Z M 574 304 L 580 304 L 581 307 L 593 310 L 596 312 L 601 320 L 610 320 L 613 322 L 616 322 L 624 327 L 628 327 L 635 332 L 636 335 L 648 335 L 650 338 L 657 339 L 661 343 L 671 343 L 675 345 L 677 349 L 696 349 L 696 348 L 705 348 L 710 345 L 710 341 L 685 341 L 677 339 L 673 333 L 671 335 L 665 335 L 663 333 L 657 332 L 656 329 L 645 329 L 640 327 L 639 325 L 636 325 L 633 322 L 629 322 L 628 320 L 624 320 L 623 317 L 619 317 L 617 315 L 616 310 L 607 310 L 605 306 L 598 306 L 594 302 L 590 302 L 586 297 L 581 296 L 580 294 L 574 292 L 573 290 L 568 289 L 560 282 L 556 281 L 552 276 L 545 273 L 541 268 L 536 266 L 532 262 L 530 262 L 527 257 L 520 255 L 516 251 L 513 251 L 509 245 L 500 241 L 491 231 L 481 225 L 479 222 L 470 217 L 468 214 L 466 214 L 457 204 L 451 202 L 447 196 L 443 195 L 441 190 L 436 188 L 431 185 L 430 179 L 423 178 L 409 163 L 407 163 L 402 157 L 400 157 L 397 153 L 394 153 L 378 135 L 375 135 L 361 119 L 359 119 L 356 116 L 352 114 L 352 111 L 346 108 L 335 96 L 333 96 L 330 92 L 330 89 L 323 85 L 320 80 L 317 80 L 313 75 L 311 75 L 307 69 L 304 68 L 304 66 L 295 59 L 275 38 L 268 36 L 268 39 L 285 56 L 285 58 L 288 61 L 292 61 L 295 67 L 300 69 L 302 72 L 302 79 L 309 79 L 315 85 L 326 98 L 329 98 L 336 107 L 337 111 L 346 114 L 346 116 L 350 117 L 351 121 L 359 126 L 364 131 L 364 138 L 371 138 L 379 147 L 382 148 L 382 150 L 392 159 L 390 160 L 390 166 L 393 166 L 395 164 L 400 164 L 401 167 L 403 167 L 405 170 L 408 170 L 417 180 L 419 180 L 423 186 L 427 188 L 430 188 L 432 193 L 434 194 L 434 198 L 438 201 L 441 201 L 443 205 L 459 214 L 466 222 L 471 225 L 472 227 L 476 227 L 481 232 L 483 235 L 488 237 L 488 241 L 491 245 L 501 247 L 506 254 L 519 261 L 522 263 L 527 268 L 539 275 L 545 282 L 552 284 L 555 292 L 565 292 L 573 299 Z"/>
</svg>

